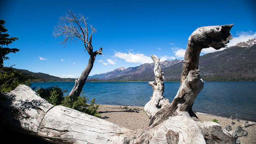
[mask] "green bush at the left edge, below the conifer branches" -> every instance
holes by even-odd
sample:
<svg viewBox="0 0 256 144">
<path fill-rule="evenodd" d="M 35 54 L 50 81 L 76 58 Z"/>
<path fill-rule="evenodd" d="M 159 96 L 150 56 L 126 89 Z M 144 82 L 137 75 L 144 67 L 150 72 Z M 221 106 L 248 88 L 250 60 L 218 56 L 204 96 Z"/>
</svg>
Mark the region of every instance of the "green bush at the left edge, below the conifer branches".
<svg viewBox="0 0 256 144">
<path fill-rule="evenodd" d="M 30 86 L 30 82 L 26 80 L 22 73 L 14 71 L 12 67 L 2 67 L 0 68 L 0 93 L 12 91 L 20 84 Z"/>
</svg>

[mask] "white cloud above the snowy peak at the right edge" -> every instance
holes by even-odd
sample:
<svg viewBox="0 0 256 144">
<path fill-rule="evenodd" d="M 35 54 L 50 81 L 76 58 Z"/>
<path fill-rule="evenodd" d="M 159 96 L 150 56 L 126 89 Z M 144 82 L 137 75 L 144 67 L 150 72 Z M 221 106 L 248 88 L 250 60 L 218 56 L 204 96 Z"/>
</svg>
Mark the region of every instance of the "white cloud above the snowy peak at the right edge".
<svg viewBox="0 0 256 144">
<path fill-rule="evenodd" d="M 229 41 L 227 44 L 229 46 L 234 46 L 235 44 L 243 41 L 247 41 L 249 39 L 256 39 L 256 32 L 252 33 L 252 31 L 249 32 L 240 32 L 238 33 L 238 37 L 233 37 L 232 40 Z"/>
</svg>

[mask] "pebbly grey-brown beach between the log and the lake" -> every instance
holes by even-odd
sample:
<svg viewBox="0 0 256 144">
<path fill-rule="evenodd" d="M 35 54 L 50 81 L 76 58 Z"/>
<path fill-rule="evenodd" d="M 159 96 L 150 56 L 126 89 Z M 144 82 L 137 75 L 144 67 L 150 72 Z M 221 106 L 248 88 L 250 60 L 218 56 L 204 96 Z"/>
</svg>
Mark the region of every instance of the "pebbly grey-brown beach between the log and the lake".
<svg viewBox="0 0 256 144">
<path fill-rule="evenodd" d="M 104 120 L 121 125 L 131 130 L 145 129 L 148 127 L 149 118 L 143 109 L 144 107 L 127 106 L 127 108 L 125 108 L 123 105 L 99 105 L 100 116 Z M 213 119 L 216 119 L 223 129 L 225 125 L 231 125 L 230 118 L 198 113 L 197 117 L 201 121 L 212 121 Z M 233 120 L 233 122 L 235 122 L 235 124 L 231 125 L 232 129 L 234 129 L 236 126 L 243 125 L 244 123 L 243 120 L 240 120 L 239 122 Z M 243 129 L 248 132 L 248 135 L 238 138 L 241 141 L 241 144 L 256 144 L 256 126 L 252 125 Z"/>
</svg>

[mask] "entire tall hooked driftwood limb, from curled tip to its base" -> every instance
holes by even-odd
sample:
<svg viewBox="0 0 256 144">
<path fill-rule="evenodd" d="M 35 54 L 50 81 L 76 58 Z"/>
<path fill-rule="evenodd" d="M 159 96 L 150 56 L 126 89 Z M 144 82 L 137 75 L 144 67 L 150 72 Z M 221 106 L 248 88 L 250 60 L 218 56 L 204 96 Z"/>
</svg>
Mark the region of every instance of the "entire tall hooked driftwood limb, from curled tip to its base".
<svg viewBox="0 0 256 144">
<path fill-rule="evenodd" d="M 151 118 L 149 125 L 157 121 L 164 121 L 175 114 L 178 104 L 183 104 L 190 116 L 195 116 L 192 105 L 199 92 L 203 89 L 203 82 L 198 70 L 199 56 L 203 48 L 212 46 L 215 49 L 225 47 L 232 39 L 230 29 L 233 24 L 223 26 L 200 27 L 188 39 L 181 73 L 181 85 L 174 100 L 165 108 L 158 111 Z"/>
</svg>

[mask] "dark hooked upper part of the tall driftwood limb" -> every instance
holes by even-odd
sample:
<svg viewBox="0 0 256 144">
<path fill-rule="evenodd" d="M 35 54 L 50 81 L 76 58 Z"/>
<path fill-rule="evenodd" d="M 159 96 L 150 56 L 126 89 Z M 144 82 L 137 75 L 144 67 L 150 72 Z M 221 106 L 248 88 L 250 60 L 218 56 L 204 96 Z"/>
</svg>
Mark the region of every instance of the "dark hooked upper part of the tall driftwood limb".
<svg viewBox="0 0 256 144">
<path fill-rule="evenodd" d="M 233 24 L 200 27 L 189 36 L 183 61 L 181 83 L 187 78 L 190 71 L 198 69 L 202 49 L 212 47 L 218 50 L 226 46 L 232 39 L 229 33 L 232 26 Z"/>
</svg>

